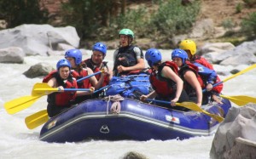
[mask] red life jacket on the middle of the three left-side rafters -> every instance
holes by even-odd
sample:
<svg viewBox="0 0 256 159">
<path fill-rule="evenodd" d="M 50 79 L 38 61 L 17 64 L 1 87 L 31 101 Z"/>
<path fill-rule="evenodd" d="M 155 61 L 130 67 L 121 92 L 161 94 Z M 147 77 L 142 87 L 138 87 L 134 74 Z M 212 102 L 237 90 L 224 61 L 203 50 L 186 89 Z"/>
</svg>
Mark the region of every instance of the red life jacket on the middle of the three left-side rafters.
<svg viewBox="0 0 256 159">
<path fill-rule="evenodd" d="M 81 71 L 72 71 L 72 75 L 74 78 L 76 78 L 77 80 L 79 80 L 79 78 L 81 77 L 87 77 L 88 76 L 88 71 L 86 69 L 83 69 Z M 84 79 L 81 82 L 78 82 L 78 87 L 79 88 L 90 88 L 91 84 L 90 84 L 90 78 Z"/>
</svg>

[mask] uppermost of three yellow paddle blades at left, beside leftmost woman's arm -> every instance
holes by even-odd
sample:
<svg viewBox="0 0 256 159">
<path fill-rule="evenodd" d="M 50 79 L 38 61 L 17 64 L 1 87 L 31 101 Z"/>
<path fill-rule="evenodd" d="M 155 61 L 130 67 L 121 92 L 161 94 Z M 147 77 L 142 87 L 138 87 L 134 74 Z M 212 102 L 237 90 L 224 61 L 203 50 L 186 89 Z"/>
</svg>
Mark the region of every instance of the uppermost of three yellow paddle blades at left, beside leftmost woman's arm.
<svg viewBox="0 0 256 159">
<path fill-rule="evenodd" d="M 38 82 L 33 86 L 32 95 L 48 95 L 53 92 L 58 92 L 58 88 L 51 88 L 45 82 Z"/>
</svg>

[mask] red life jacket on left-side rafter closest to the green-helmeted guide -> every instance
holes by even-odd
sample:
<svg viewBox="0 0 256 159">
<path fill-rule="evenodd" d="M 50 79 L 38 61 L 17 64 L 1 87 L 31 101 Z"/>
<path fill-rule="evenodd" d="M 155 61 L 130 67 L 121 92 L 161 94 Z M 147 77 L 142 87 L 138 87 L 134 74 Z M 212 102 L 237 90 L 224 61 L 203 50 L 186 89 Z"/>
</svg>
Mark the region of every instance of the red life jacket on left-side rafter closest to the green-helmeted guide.
<svg viewBox="0 0 256 159">
<path fill-rule="evenodd" d="M 84 63 L 87 65 L 87 67 L 89 67 L 94 73 L 96 73 L 97 71 L 101 71 L 103 68 L 107 68 L 108 70 L 108 65 L 106 61 L 103 61 L 102 62 L 102 67 L 97 67 L 96 64 L 91 60 L 91 59 L 87 59 L 87 60 L 84 60 Z M 96 76 L 96 79 L 99 81 L 100 78 L 101 78 L 101 74 L 97 74 Z M 109 83 L 109 77 L 108 76 L 105 76 L 104 77 L 104 80 L 103 80 L 103 83 L 102 83 L 102 87 L 104 86 L 107 86 Z"/>
</svg>

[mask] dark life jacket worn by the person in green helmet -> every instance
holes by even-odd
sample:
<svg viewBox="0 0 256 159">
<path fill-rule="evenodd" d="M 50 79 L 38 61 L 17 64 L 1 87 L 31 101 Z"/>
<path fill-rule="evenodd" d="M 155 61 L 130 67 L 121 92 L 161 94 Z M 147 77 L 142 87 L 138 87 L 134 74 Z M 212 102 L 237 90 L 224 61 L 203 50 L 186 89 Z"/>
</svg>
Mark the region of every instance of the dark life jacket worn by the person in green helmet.
<svg viewBox="0 0 256 159">
<path fill-rule="evenodd" d="M 128 46 L 128 47 L 123 47 L 118 49 L 118 54 L 116 55 L 115 62 L 113 65 L 113 71 L 114 71 L 114 76 L 117 76 L 117 66 L 118 65 L 123 65 L 125 67 L 130 67 L 133 65 L 137 65 L 137 57 L 136 53 L 134 52 L 133 48 L 136 46 Z M 119 58 L 122 58 L 123 60 L 119 60 Z M 123 71 L 119 73 L 119 75 L 128 75 L 129 71 Z M 135 73 L 133 73 L 135 74 Z"/>
</svg>

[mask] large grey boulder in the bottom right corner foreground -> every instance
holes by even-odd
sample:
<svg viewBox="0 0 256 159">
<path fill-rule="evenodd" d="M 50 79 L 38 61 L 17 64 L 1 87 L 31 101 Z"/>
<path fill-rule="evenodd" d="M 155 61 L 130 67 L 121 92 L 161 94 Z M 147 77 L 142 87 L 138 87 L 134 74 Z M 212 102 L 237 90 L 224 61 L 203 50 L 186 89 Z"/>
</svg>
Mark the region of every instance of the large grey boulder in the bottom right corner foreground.
<svg viewBox="0 0 256 159">
<path fill-rule="evenodd" d="M 215 133 L 211 158 L 256 158 L 255 132 L 256 105 L 230 108 Z"/>
</svg>

